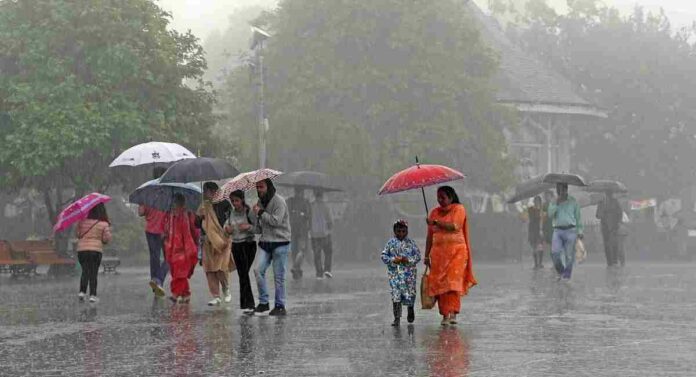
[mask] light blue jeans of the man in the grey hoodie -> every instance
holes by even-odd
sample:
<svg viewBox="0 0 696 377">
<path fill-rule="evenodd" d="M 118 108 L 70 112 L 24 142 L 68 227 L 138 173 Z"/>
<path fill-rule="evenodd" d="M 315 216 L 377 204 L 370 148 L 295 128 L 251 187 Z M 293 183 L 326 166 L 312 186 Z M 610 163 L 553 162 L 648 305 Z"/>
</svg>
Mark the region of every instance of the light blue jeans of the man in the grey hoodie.
<svg viewBox="0 0 696 377">
<path fill-rule="evenodd" d="M 259 304 L 268 304 L 268 288 L 266 287 L 266 270 L 273 264 L 273 280 L 275 282 L 275 306 L 285 307 L 285 267 L 288 264 L 290 245 L 277 246 L 271 252 L 262 248 L 258 253 L 259 261 L 254 270 L 256 284 L 259 288 Z"/>
</svg>

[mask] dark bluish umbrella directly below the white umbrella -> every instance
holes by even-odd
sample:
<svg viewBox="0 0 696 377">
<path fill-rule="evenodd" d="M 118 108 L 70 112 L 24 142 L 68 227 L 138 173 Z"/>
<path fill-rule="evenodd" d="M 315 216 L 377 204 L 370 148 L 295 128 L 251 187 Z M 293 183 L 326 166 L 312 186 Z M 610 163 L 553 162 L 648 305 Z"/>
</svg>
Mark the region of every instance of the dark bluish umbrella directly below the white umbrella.
<svg viewBox="0 0 696 377">
<path fill-rule="evenodd" d="M 143 183 L 128 196 L 128 201 L 160 211 L 169 211 L 173 204 L 172 197 L 177 193 L 184 195 L 188 209 L 195 211 L 200 206 L 200 187 L 190 183 L 160 183 L 159 179 Z"/>
</svg>

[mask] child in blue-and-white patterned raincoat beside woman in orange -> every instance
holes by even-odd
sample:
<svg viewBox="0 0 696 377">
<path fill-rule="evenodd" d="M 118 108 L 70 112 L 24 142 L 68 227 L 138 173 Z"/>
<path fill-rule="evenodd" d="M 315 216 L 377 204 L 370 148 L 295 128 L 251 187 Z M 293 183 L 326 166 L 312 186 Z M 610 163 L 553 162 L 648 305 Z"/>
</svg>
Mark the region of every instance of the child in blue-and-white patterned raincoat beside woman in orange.
<svg viewBox="0 0 696 377">
<path fill-rule="evenodd" d="M 416 303 L 416 265 L 421 260 L 418 245 L 408 238 L 408 223 L 397 220 L 394 223 L 394 238 L 390 239 L 382 250 L 382 262 L 387 265 L 387 276 L 392 294 L 394 322 L 399 326 L 403 305 L 408 308 L 408 323 L 416 318 L 414 304 Z"/>
</svg>

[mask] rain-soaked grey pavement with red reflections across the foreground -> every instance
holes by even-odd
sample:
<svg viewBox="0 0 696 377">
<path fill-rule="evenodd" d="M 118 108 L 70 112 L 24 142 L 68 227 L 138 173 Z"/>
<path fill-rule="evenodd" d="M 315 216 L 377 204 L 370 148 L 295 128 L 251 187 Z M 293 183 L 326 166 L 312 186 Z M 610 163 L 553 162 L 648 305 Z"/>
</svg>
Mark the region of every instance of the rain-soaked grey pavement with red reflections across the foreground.
<svg viewBox="0 0 696 377">
<path fill-rule="evenodd" d="M 285 318 L 210 308 L 197 271 L 190 305 L 154 300 L 147 272 L 77 279 L 0 277 L 0 375 L 46 376 L 694 376 L 696 265 L 478 265 L 460 324 L 436 311 L 389 326 L 384 269 L 289 284 Z"/>
</svg>

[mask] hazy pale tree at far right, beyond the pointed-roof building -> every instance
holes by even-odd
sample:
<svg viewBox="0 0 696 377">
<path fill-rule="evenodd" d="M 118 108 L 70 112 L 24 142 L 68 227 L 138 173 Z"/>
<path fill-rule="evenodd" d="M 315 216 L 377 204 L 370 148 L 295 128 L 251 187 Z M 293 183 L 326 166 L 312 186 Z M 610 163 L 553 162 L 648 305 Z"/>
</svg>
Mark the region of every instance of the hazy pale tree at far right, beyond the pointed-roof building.
<svg viewBox="0 0 696 377">
<path fill-rule="evenodd" d="M 529 3 L 518 41 L 609 110 L 607 122 L 578 141 L 591 175 L 660 196 L 693 185 L 694 29 L 675 31 L 664 13 L 640 7 L 622 16 L 599 1 L 569 0 L 568 13 L 557 14 L 543 0 Z"/>
</svg>

